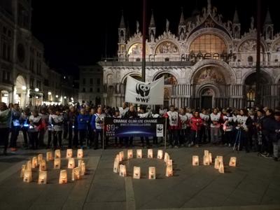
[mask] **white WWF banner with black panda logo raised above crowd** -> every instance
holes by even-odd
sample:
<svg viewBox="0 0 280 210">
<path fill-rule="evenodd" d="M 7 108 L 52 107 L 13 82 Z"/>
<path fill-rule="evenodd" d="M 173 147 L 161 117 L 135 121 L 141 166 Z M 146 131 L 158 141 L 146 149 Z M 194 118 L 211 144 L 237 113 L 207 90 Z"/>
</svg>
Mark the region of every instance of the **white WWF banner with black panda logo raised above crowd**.
<svg viewBox="0 0 280 210">
<path fill-rule="evenodd" d="M 133 104 L 163 104 L 164 77 L 144 83 L 127 76 L 125 102 Z"/>
</svg>

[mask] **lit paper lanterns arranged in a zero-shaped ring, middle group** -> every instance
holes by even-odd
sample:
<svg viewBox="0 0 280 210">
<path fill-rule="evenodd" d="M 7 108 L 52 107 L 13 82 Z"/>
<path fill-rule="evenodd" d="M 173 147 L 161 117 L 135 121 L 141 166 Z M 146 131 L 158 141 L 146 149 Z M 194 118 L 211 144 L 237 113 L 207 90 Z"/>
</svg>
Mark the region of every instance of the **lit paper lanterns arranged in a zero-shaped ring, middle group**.
<svg viewBox="0 0 280 210">
<path fill-rule="evenodd" d="M 137 150 L 137 158 L 143 158 L 142 150 Z M 153 149 L 148 149 L 148 158 L 153 158 Z M 134 158 L 133 150 L 127 151 L 127 160 Z M 162 160 L 163 158 L 163 151 L 158 150 L 157 158 Z M 127 176 L 127 170 L 124 164 L 120 164 L 120 162 L 123 162 L 125 160 L 125 153 L 124 151 L 121 151 L 116 155 L 116 158 L 114 160 L 113 165 L 113 172 L 119 173 L 120 176 Z M 168 153 L 165 153 L 164 158 L 165 164 L 166 164 L 166 173 L 165 176 L 173 176 L 173 165 L 172 160 L 170 159 L 170 156 Z M 141 167 L 134 167 L 133 168 L 133 179 L 141 179 Z M 155 167 L 148 167 L 148 179 L 155 179 Z"/>
</svg>

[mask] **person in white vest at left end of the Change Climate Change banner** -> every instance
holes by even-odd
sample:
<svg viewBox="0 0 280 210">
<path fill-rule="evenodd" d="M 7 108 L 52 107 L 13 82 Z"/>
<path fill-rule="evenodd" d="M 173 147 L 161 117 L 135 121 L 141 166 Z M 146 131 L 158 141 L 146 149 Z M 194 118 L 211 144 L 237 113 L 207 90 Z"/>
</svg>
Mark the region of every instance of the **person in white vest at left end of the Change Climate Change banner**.
<svg viewBox="0 0 280 210">
<path fill-rule="evenodd" d="M 100 137 L 101 145 L 103 145 L 103 123 L 104 114 L 102 113 L 102 108 L 98 107 L 97 113 L 94 113 L 90 125 L 94 132 L 94 150 L 98 148 L 98 138 Z"/>
</svg>

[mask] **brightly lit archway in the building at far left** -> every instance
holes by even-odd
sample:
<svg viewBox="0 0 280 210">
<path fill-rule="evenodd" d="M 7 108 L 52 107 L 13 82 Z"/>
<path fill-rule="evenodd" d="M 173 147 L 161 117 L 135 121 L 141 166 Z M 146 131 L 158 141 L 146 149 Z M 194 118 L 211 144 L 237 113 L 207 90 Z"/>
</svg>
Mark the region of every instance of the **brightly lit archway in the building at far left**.
<svg viewBox="0 0 280 210">
<path fill-rule="evenodd" d="M 25 78 L 18 76 L 15 80 L 15 103 L 25 106 L 27 84 Z"/>
</svg>

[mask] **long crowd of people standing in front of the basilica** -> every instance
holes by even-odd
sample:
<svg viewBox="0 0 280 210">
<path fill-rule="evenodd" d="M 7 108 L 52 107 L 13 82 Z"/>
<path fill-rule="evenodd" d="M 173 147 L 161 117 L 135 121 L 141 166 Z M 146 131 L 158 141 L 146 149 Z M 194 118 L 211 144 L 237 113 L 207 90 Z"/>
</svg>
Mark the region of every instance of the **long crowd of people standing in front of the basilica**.
<svg viewBox="0 0 280 210">
<path fill-rule="evenodd" d="M 234 147 L 239 151 L 257 152 L 265 158 L 279 158 L 280 110 L 267 107 L 254 109 L 190 108 L 151 110 L 147 106 L 111 108 L 76 104 L 76 106 L 45 106 L 20 109 L 0 102 L 0 139 L 3 153 L 18 149 L 17 140 L 23 134 L 24 148 L 107 148 L 134 146 L 135 137 L 103 137 L 104 118 L 166 118 L 170 148 L 199 147 L 214 144 Z M 48 134 L 46 134 L 48 133 Z M 45 135 L 48 141 L 45 142 Z M 105 141 L 103 141 L 103 138 Z M 10 139 L 10 141 L 8 141 Z M 140 137 L 141 146 L 161 144 L 161 137 Z M 159 139 L 159 141 L 158 141 Z M 144 141 L 145 140 L 145 141 Z M 103 143 L 104 142 L 104 143 Z M 104 144 L 104 145 L 103 145 Z"/>
</svg>

